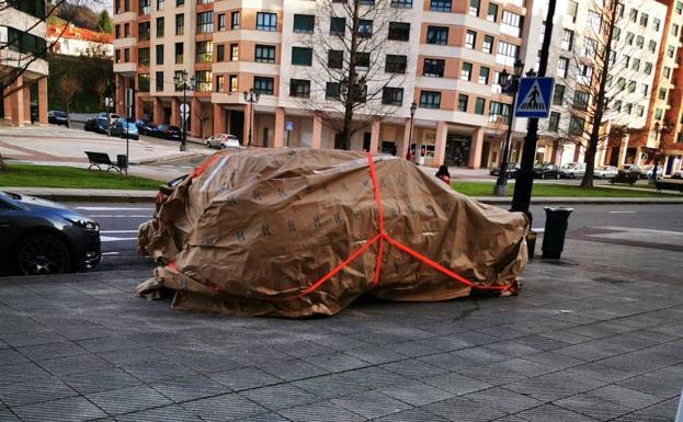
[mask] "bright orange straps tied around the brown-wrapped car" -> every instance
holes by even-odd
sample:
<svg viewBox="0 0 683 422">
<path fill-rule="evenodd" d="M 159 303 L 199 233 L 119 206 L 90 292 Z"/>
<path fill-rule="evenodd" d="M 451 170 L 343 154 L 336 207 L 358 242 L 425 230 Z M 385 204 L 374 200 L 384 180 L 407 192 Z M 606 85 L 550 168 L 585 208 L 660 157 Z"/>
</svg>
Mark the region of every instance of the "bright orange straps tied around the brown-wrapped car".
<svg viewBox="0 0 683 422">
<path fill-rule="evenodd" d="M 202 174 L 206 170 L 206 168 L 215 160 L 216 156 L 217 155 L 214 155 L 212 158 L 209 158 L 204 163 L 202 163 L 197 169 L 195 169 L 195 171 L 193 171 L 192 173 L 192 176 Z M 397 241 L 396 239 L 387 235 L 387 232 L 384 231 L 384 216 L 383 216 L 384 213 L 382 209 L 382 196 L 379 194 L 379 185 L 377 184 L 377 173 L 375 172 L 375 162 L 373 160 L 373 155 L 369 152 L 367 152 L 367 163 L 369 166 L 369 175 L 373 181 L 373 191 L 375 194 L 375 202 L 377 203 L 377 228 L 379 232 L 375 235 L 372 239 L 366 241 L 365 244 L 363 244 L 361 248 L 356 249 L 353 253 L 351 253 L 351 255 L 349 255 L 349 258 L 342 261 L 339 265 L 337 265 L 330 272 L 328 272 L 322 277 L 320 277 L 316 283 L 306 287 L 299 294 L 296 294 L 289 297 L 284 297 L 284 298 L 264 297 L 264 298 L 261 298 L 262 300 L 287 301 L 287 300 L 300 299 L 301 297 L 317 290 L 318 287 L 320 287 L 325 282 L 330 280 L 332 276 L 334 276 L 334 274 L 342 271 L 346 265 L 353 262 L 361 253 L 365 252 L 371 246 L 373 246 L 373 243 L 378 242 L 377 243 L 377 261 L 375 263 L 375 273 L 373 275 L 373 281 L 371 285 L 372 287 L 375 287 L 377 283 L 379 283 L 379 271 L 382 269 L 382 258 L 383 258 L 383 252 L 384 252 L 383 240 L 386 240 L 389 244 L 397 248 L 398 250 L 408 253 L 409 255 L 413 256 L 418 261 L 431 266 L 432 269 L 471 288 L 478 288 L 481 290 L 508 290 L 510 287 L 512 287 L 512 285 L 510 284 L 494 285 L 494 286 L 479 286 L 470 282 L 469 280 L 463 277 L 462 275 L 458 275 L 452 270 L 448 270 L 447 267 L 441 265 L 440 263 L 429 259 L 428 256 L 424 256 L 423 254 L 413 251 L 412 249 L 408 248 L 407 246 L 400 243 L 399 241 Z M 167 266 L 169 267 L 169 270 L 178 273 L 178 269 L 175 267 L 175 264 L 173 264 L 172 262 L 170 262 Z M 212 288 L 212 289 L 216 289 L 216 288 Z"/>
</svg>

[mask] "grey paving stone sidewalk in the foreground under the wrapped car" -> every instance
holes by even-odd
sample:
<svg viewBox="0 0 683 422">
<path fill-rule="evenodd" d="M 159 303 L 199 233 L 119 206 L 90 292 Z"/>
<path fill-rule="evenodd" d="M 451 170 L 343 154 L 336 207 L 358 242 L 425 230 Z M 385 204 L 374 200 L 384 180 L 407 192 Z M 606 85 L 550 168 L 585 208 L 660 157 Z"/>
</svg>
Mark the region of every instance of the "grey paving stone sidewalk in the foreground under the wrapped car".
<svg viewBox="0 0 683 422">
<path fill-rule="evenodd" d="M 517 297 L 308 320 L 174 310 L 148 272 L 0 280 L 0 421 L 672 421 L 681 252 L 591 236 Z"/>
</svg>

